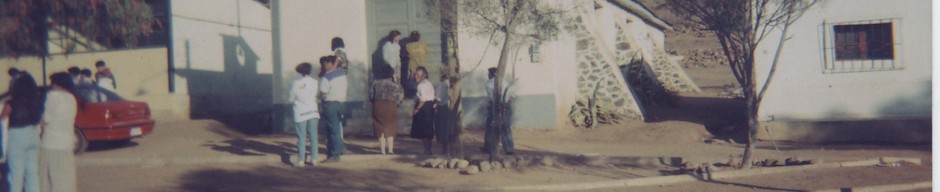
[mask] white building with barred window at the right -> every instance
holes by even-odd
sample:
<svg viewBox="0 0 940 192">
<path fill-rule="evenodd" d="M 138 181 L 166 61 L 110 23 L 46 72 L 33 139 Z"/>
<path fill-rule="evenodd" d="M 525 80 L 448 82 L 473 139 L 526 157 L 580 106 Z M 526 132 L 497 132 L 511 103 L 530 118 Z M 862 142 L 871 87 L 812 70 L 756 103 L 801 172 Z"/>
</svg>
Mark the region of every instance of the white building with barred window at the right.
<svg viewBox="0 0 940 192">
<path fill-rule="evenodd" d="M 790 30 L 759 111 L 762 139 L 929 142 L 931 1 L 830 0 Z M 761 44 L 767 78 L 779 30 Z M 762 86 L 762 85 L 759 85 Z"/>
</svg>

